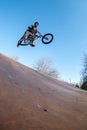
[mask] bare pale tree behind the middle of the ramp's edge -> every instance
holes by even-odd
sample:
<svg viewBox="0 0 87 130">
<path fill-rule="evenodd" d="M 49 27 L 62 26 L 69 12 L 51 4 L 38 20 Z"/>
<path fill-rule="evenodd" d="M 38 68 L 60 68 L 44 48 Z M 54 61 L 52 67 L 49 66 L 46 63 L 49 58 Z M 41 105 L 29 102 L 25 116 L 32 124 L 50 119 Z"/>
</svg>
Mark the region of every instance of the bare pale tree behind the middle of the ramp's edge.
<svg viewBox="0 0 87 130">
<path fill-rule="evenodd" d="M 34 69 L 43 74 L 58 78 L 58 71 L 53 67 L 53 62 L 50 58 L 38 59 L 34 64 Z"/>
</svg>

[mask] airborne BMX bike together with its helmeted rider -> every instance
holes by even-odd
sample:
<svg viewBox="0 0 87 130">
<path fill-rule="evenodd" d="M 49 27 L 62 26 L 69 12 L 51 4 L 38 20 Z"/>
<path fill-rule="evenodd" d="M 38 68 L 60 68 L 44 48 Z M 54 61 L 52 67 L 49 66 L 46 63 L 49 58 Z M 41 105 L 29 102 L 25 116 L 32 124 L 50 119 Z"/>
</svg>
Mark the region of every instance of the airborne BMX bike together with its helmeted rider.
<svg viewBox="0 0 87 130">
<path fill-rule="evenodd" d="M 53 34 L 47 33 L 42 35 L 38 30 L 37 27 L 39 26 L 38 22 L 35 22 L 34 25 L 31 25 L 28 27 L 28 29 L 25 31 L 24 35 L 20 38 L 18 41 L 17 47 L 19 45 L 26 46 L 31 45 L 34 47 L 33 44 L 34 40 L 41 38 L 42 43 L 49 44 L 53 41 Z"/>
</svg>

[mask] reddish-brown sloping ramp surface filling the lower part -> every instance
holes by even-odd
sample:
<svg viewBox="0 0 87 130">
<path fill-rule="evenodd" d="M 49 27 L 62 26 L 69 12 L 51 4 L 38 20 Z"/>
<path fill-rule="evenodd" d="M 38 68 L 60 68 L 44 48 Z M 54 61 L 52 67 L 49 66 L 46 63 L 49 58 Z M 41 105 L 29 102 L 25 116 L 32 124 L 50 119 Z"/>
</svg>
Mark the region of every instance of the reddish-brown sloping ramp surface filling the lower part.
<svg viewBox="0 0 87 130">
<path fill-rule="evenodd" d="M 87 92 L 0 54 L 0 130 L 87 130 Z"/>
</svg>

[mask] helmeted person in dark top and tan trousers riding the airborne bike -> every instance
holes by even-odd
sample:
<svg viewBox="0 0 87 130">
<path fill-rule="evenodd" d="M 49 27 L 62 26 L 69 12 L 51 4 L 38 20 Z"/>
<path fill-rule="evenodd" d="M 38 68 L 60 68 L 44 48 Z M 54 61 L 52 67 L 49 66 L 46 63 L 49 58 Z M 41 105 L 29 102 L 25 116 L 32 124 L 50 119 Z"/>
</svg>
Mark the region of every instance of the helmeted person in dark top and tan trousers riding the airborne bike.
<svg viewBox="0 0 87 130">
<path fill-rule="evenodd" d="M 24 33 L 24 35 L 21 37 L 21 39 L 18 41 L 18 44 L 17 44 L 17 47 L 21 44 L 21 42 L 23 41 L 23 40 L 26 40 L 28 37 L 30 37 L 30 36 L 37 36 L 37 27 L 39 26 L 39 23 L 38 22 L 35 22 L 34 23 L 34 25 L 31 25 L 31 26 L 29 26 L 28 27 L 28 29 L 25 31 L 25 33 Z M 39 32 L 38 32 L 39 33 Z M 33 44 L 33 41 L 34 41 L 34 39 L 29 39 L 30 40 L 30 42 L 29 42 L 29 44 L 31 45 L 31 46 L 35 46 L 34 44 Z"/>
</svg>

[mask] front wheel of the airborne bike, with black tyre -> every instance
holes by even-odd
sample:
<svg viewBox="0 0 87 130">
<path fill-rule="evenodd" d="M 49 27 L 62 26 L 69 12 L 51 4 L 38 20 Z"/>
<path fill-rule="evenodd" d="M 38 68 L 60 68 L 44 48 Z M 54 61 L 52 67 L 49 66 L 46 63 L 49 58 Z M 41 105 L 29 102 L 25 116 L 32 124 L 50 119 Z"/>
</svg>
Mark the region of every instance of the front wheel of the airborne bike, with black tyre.
<svg viewBox="0 0 87 130">
<path fill-rule="evenodd" d="M 42 43 L 49 44 L 53 41 L 53 34 L 47 33 L 42 37 Z"/>
</svg>

